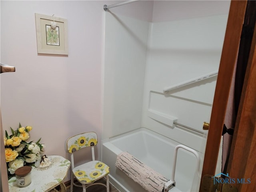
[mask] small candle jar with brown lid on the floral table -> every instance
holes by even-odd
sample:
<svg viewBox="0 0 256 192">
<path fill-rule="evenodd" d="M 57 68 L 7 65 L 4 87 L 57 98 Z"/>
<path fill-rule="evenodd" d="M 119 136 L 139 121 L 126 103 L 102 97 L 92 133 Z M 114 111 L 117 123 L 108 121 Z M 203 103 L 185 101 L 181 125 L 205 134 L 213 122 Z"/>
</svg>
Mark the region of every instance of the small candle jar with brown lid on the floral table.
<svg viewBox="0 0 256 192">
<path fill-rule="evenodd" d="M 16 184 L 18 187 L 26 187 L 31 183 L 31 167 L 23 166 L 15 171 Z"/>
</svg>

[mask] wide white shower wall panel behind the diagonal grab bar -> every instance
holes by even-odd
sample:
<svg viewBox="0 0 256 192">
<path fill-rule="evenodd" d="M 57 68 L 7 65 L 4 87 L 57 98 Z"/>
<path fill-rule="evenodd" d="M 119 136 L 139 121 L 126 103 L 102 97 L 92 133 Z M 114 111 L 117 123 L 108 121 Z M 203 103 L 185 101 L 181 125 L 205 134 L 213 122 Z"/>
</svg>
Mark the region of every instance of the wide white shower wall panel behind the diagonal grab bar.
<svg viewBox="0 0 256 192">
<path fill-rule="evenodd" d="M 163 94 L 166 87 L 217 71 L 227 15 L 152 23 L 148 35 L 142 126 L 202 151 L 202 137 L 159 123 L 148 110 L 202 131 L 210 122 L 216 77 Z"/>
</svg>

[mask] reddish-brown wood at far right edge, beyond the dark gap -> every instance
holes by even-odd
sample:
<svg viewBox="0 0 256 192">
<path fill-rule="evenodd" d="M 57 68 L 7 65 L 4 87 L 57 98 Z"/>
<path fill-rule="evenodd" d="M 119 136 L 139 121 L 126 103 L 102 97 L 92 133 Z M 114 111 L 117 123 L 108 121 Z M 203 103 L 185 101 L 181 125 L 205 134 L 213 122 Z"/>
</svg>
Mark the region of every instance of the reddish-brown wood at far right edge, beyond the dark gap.
<svg viewBox="0 0 256 192">
<path fill-rule="evenodd" d="M 244 178 L 234 183 L 238 191 L 256 191 L 256 26 L 227 171 L 240 182 Z"/>
</svg>

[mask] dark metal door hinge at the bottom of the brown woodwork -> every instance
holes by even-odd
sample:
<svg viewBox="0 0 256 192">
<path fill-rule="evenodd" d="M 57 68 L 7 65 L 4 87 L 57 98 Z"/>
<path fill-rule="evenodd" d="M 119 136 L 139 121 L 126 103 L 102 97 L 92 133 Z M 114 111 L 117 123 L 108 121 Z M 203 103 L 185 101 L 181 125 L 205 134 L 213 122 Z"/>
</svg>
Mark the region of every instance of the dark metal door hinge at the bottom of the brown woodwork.
<svg viewBox="0 0 256 192">
<path fill-rule="evenodd" d="M 235 186 L 229 183 L 216 182 L 218 178 L 206 174 L 203 177 L 200 192 L 238 192 Z"/>
</svg>

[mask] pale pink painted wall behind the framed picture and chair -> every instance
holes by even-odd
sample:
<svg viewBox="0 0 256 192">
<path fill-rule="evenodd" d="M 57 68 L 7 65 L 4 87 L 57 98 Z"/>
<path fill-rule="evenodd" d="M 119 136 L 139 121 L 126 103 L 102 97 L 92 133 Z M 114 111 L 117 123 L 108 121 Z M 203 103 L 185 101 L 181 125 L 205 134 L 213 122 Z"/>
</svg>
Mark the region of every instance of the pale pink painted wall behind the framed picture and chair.
<svg viewBox="0 0 256 192">
<path fill-rule="evenodd" d="M 71 135 L 94 131 L 100 140 L 103 5 L 117 2 L 0 1 L 1 63 L 16 67 L 1 74 L 3 130 L 30 125 L 30 139 L 42 138 L 47 155 L 66 158 Z M 136 2 L 135 10 L 127 5 L 113 12 L 152 20 L 148 8 L 152 3 Z M 37 54 L 35 13 L 68 20 L 67 57 Z M 96 153 L 99 158 L 100 142 Z"/>
</svg>

